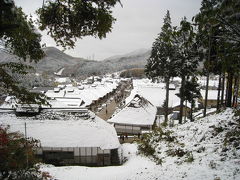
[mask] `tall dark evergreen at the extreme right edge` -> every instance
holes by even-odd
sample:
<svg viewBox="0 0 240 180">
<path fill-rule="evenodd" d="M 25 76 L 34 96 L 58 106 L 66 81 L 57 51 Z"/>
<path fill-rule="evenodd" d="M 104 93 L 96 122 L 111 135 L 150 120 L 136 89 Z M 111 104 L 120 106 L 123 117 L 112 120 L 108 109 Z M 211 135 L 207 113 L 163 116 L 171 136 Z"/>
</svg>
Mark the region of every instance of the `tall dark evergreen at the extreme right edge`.
<svg viewBox="0 0 240 180">
<path fill-rule="evenodd" d="M 223 69 L 227 72 L 226 106 L 235 104 L 236 94 L 238 94 L 240 77 L 240 2 L 233 0 L 219 0 L 218 13 L 216 18 L 219 21 L 223 33 L 221 35 L 222 49 L 225 58 L 223 59 Z"/>
</svg>

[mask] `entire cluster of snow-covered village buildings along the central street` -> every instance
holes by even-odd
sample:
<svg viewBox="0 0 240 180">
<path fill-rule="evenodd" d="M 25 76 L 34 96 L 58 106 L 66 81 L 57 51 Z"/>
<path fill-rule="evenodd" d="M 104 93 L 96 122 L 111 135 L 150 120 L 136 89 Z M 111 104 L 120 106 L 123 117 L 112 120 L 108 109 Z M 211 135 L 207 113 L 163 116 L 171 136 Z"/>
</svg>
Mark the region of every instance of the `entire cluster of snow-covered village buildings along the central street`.
<svg viewBox="0 0 240 180">
<path fill-rule="evenodd" d="M 120 143 L 140 138 L 143 133 L 160 126 L 165 95 L 163 83 L 150 80 L 91 77 L 79 83 L 58 79 L 56 87 L 34 88 L 44 93 L 51 106 L 18 104 L 7 97 L 0 106 L 2 112 L 21 114 L 66 113 L 62 118 L 44 120 L 0 115 L 0 123 L 13 131 L 39 139 L 36 154 L 46 163 L 55 165 L 105 166 L 122 163 Z M 177 84 L 170 85 L 170 117 L 179 111 Z M 204 91 L 201 92 L 204 97 Z M 217 91 L 209 91 L 209 106 L 215 107 Z M 204 102 L 198 100 L 199 107 Z M 196 107 L 198 108 L 198 107 Z M 190 105 L 184 106 L 185 116 Z M 69 114 L 70 113 L 70 114 Z M 74 116 L 74 114 L 83 114 Z M 61 115 L 60 115 L 61 116 Z M 75 117 L 75 118 L 74 118 Z M 26 127 L 27 126 L 27 127 Z"/>
</svg>

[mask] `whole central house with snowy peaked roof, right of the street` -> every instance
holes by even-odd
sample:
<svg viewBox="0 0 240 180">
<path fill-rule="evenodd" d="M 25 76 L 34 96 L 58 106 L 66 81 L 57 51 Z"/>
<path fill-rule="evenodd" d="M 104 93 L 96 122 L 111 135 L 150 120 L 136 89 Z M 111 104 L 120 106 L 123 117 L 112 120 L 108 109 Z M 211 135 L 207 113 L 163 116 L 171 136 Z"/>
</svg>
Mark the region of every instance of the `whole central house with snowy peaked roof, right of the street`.
<svg viewBox="0 0 240 180">
<path fill-rule="evenodd" d="M 155 126 L 157 108 L 147 99 L 136 94 L 115 116 L 108 120 L 118 135 L 139 135 Z"/>
</svg>

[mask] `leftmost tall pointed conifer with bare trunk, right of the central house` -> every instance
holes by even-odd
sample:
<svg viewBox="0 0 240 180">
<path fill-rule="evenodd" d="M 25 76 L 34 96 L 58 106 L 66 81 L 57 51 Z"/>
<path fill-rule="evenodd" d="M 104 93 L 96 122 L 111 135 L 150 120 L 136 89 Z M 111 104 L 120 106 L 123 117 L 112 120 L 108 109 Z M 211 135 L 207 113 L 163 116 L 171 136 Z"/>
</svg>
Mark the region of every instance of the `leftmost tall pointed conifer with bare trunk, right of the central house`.
<svg viewBox="0 0 240 180">
<path fill-rule="evenodd" d="M 164 24 L 157 39 L 153 43 L 151 56 L 147 60 L 145 73 L 149 78 L 163 78 L 166 83 L 165 123 L 168 121 L 168 101 L 170 78 L 177 76 L 176 45 L 173 38 L 174 29 L 171 25 L 170 13 L 167 11 Z"/>
</svg>

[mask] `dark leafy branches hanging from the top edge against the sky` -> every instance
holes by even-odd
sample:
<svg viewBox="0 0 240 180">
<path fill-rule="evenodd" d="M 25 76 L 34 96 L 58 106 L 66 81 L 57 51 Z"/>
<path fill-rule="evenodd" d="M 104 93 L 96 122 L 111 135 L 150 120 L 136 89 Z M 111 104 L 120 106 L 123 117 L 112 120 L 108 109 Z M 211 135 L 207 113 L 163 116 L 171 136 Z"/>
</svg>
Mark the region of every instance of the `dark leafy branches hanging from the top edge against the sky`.
<svg viewBox="0 0 240 180">
<path fill-rule="evenodd" d="M 105 38 L 111 32 L 115 18 L 111 8 L 120 0 L 47 0 L 37 10 L 41 30 L 62 47 L 74 47 L 77 38 Z"/>
</svg>

